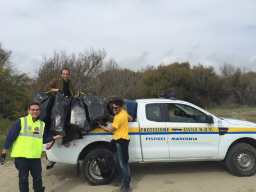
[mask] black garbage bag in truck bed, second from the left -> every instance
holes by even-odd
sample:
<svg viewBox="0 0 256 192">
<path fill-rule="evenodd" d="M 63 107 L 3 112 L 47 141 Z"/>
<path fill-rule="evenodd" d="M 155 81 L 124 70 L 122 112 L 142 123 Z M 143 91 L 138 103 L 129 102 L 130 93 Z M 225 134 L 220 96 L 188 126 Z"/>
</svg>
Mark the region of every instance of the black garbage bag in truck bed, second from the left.
<svg viewBox="0 0 256 192">
<path fill-rule="evenodd" d="M 57 92 L 51 114 L 51 132 L 65 136 L 70 127 L 72 100 Z"/>
</svg>

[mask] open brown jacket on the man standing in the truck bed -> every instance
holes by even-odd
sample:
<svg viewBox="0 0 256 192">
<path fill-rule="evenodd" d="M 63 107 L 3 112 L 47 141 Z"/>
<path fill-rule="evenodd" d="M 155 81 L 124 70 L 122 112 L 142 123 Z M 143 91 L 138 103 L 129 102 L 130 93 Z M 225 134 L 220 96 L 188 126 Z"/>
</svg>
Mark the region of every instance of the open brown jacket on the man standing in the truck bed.
<svg viewBox="0 0 256 192">
<path fill-rule="evenodd" d="M 75 97 L 75 89 L 74 89 L 74 86 L 73 86 L 73 84 L 71 83 L 70 80 L 67 80 L 67 82 L 68 82 L 68 85 L 69 85 L 69 88 L 70 88 L 70 94 L 71 94 L 71 96 L 68 97 L 68 98 L 72 99 L 72 98 Z M 48 85 L 45 86 L 44 89 L 45 89 L 46 92 L 49 92 L 52 89 L 63 90 L 63 79 L 62 79 L 62 77 L 54 78 Z"/>
</svg>

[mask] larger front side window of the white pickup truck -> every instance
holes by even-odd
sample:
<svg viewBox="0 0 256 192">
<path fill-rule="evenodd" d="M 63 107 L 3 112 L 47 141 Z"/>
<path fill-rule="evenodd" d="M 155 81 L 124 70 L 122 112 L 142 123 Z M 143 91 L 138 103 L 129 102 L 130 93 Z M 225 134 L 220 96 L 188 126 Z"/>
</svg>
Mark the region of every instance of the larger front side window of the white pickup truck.
<svg viewBox="0 0 256 192">
<path fill-rule="evenodd" d="M 167 103 L 170 122 L 198 122 L 205 123 L 205 114 L 198 109 L 195 109 L 184 104 Z"/>
</svg>

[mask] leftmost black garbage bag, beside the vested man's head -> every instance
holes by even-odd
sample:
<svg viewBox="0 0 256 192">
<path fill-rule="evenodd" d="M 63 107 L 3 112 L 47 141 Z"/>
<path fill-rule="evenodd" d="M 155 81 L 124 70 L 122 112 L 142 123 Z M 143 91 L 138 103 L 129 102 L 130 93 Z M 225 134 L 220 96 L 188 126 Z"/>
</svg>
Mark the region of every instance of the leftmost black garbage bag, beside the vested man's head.
<svg viewBox="0 0 256 192">
<path fill-rule="evenodd" d="M 44 129 L 49 134 L 51 129 L 51 112 L 55 97 L 52 93 L 38 92 L 31 103 L 38 103 L 40 106 L 40 120 L 45 123 Z"/>
</svg>

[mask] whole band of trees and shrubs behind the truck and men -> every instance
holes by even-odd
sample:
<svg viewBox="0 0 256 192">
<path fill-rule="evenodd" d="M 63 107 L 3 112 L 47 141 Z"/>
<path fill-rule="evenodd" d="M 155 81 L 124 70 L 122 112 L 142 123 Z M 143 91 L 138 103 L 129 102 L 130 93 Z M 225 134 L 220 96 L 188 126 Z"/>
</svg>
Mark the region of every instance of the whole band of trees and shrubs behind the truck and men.
<svg viewBox="0 0 256 192">
<path fill-rule="evenodd" d="M 99 98 L 158 98 L 160 93 L 169 98 L 175 92 L 177 99 L 203 108 L 256 106 L 256 72 L 226 63 L 220 67 L 220 74 L 212 66 L 189 62 L 162 63 L 157 67 L 153 63 L 135 72 L 108 59 L 104 49 L 90 48 L 69 55 L 65 51 L 54 52 L 51 58 L 44 58 L 30 78 L 17 72 L 11 53 L 0 43 L 0 118 L 16 120 L 24 116 L 36 93 L 59 77 L 61 68 L 70 69 L 76 91 Z"/>
</svg>

